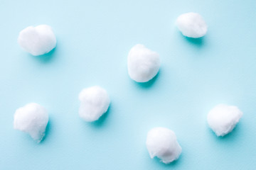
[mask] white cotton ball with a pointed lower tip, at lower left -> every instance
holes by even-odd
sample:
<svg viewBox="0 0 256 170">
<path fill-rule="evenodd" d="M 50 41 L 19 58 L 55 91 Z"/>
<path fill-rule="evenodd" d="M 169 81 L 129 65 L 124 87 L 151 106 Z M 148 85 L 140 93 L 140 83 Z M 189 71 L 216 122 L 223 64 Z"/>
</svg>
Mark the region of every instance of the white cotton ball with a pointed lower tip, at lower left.
<svg viewBox="0 0 256 170">
<path fill-rule="evenodd" d="M 14 114 L 14 129 L 27 132 L 33 140 L 41 142 L 46 132 L 48 113 L 37 103 L 28 103 Z"/>
</svg>

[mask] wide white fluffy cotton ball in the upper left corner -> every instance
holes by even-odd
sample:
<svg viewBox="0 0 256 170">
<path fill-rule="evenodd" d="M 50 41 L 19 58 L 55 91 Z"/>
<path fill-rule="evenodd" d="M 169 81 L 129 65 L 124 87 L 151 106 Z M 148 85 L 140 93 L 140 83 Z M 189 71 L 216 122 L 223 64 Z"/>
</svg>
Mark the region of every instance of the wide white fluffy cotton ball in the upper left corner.
<svg viewBox="0 0 256 170">
<path fill-rule="evenodd" d="M 55 48 L 56 38 L 50 26 L 29 26 L 19 33 L 18 44 L 31 55 L 43 55 Z"/>
</svg>

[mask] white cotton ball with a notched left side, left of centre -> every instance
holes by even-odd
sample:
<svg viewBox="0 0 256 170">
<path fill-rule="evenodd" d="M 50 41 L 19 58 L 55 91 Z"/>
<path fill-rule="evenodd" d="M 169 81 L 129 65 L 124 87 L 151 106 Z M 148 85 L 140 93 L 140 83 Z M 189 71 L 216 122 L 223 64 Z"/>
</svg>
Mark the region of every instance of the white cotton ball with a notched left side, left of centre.
<svg viewBox="0 0 256 170">
<path fill-rule="evenodd" d="M 100 86 L 83 89 L 79 94 L 79 100 L 79 115 L 87 122 L 98 120 L 110 106 L 110 97 Z"/>
</svg>

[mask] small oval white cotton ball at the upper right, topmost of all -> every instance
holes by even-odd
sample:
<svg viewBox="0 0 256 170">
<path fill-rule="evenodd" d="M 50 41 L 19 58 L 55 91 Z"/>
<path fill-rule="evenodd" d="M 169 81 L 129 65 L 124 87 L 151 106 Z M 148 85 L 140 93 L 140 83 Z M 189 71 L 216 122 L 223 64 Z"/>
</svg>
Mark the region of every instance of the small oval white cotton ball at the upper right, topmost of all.
<svg viewBox="0 0 256 170">
<path fill-rule="evenodd" d="M 207 32 L 206 22 L 198 13 L 183 13 L 178 16 L 176 25 L 181 33 L 189 38 L 201 38 Z"/>
</svg>

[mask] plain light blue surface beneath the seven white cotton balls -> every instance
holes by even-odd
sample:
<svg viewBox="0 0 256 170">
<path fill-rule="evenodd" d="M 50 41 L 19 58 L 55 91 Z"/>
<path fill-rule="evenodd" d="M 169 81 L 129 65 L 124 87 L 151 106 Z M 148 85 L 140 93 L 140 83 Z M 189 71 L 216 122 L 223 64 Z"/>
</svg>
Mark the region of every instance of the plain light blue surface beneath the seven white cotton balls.
<svg viewBox="0 0 256 170">
<path fill-rule="evenodd" d="M 0 169 L 255 169 L 256 1 L 10 1 L 0 2 Z M 181 13 L 201 13 L 203 40 L 174 26 Z M 27 26 L 53 27 L 58 45 L 33 57 L 16 42 Z M 127 54 L 142 43 L 159 52 L 153 81 L 127 74 Z M 78 116 L 84 87 L 107 89 L 110 111 L 97 123 Z M 50 115 L 39 145 L 13 129 L 16 108 L 29 102 Z M 218 103 L 244 115 L 216 137 L 206 115 Z M 150 159 L 146 133 L 163 126 L 183 148 L 170 165 Z"/>
</svg>

